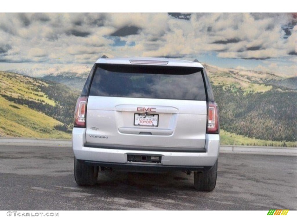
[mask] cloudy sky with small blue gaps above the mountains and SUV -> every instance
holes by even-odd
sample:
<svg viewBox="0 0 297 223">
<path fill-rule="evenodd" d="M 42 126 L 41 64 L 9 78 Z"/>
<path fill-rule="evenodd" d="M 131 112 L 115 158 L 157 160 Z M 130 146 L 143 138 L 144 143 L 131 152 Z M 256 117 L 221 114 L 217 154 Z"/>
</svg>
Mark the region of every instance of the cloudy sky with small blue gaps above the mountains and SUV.
<svg viewBox="0 0 297 223">
<path fill-rule="evenodd" d="M 0 13 L 0 70 L 87 72 L 102 55 L 297 76 L 297 13 Z"/>
</svg>

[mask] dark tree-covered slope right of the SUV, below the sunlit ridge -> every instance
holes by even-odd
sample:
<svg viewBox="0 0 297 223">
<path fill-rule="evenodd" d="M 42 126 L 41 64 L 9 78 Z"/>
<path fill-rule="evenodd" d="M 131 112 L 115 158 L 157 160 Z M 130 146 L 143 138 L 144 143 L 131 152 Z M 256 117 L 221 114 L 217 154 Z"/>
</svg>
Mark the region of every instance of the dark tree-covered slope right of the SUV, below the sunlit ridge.
<svg viewBox="0 0 297 223">
<path fill-rule="evenodd" d="M 213 86 L 220 126 L 230 133 L 273 141 L 297 141 L 297 91 L 273 87 L 266 92 Z"/>
</svg>

